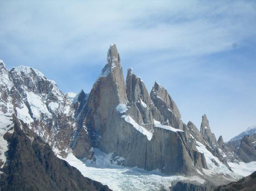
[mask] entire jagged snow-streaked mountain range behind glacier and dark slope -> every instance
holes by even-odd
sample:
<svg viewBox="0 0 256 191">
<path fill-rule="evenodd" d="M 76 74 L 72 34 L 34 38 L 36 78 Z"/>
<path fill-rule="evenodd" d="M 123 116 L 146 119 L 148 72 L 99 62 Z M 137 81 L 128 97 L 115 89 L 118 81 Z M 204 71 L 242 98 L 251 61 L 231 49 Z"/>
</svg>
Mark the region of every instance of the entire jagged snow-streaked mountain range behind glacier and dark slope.
<svg viewBox="0 0 256 191">
<path fill-rule="evenodd" d="M 207 116 L 201 129 L 184 124 L 175 101 L 156 83 L 150 93 L 132 69 L 123 77 L 116 45 L 110 45 L 107 64 L 89 94 L 81 91 L 73 101 L 40 71 L 20 66 L 10 71 L 0 63 L 2 91 L 0 141 L 11 131 L 11 115 L 17 117 L 48 143 L 55 154 L 97 163 L 94 149 L 111 154 L 111 163 L 158 170 L 166 175 L 196 176 L 220 185 L 241 176 L 229 162 L 254 160 L 254 137 L 244 139 L 237 150 L 216 139 Z M 6 143 L 7 145 L 7 143 Z M 250 147 L 250 155 L 244 154 Z M 0 163 L 6 148 L 0 148 Z M 122 159 L 122 160 L 120 160 Z M 206 184 L 206 183 L 205 183 Z"/>
</svg>

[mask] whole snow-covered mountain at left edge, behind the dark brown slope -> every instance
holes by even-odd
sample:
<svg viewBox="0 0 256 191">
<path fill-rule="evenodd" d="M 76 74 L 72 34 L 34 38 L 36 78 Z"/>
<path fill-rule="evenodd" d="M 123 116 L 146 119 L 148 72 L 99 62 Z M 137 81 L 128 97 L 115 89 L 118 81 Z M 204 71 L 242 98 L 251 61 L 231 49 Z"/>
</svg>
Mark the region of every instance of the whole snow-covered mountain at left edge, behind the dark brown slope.
<svg viewBox="0 0 256 191">
<path fill-rule="evenodd" d="M 53 80 L 31 67 L 8 71 L 1 62 L 0 73 L 1 165 L 7 150 L 3 135 L 12 127 L 13 115 L 62 155 L 67 154 L 76 133 L 72 101 Z"/>
</svg>

